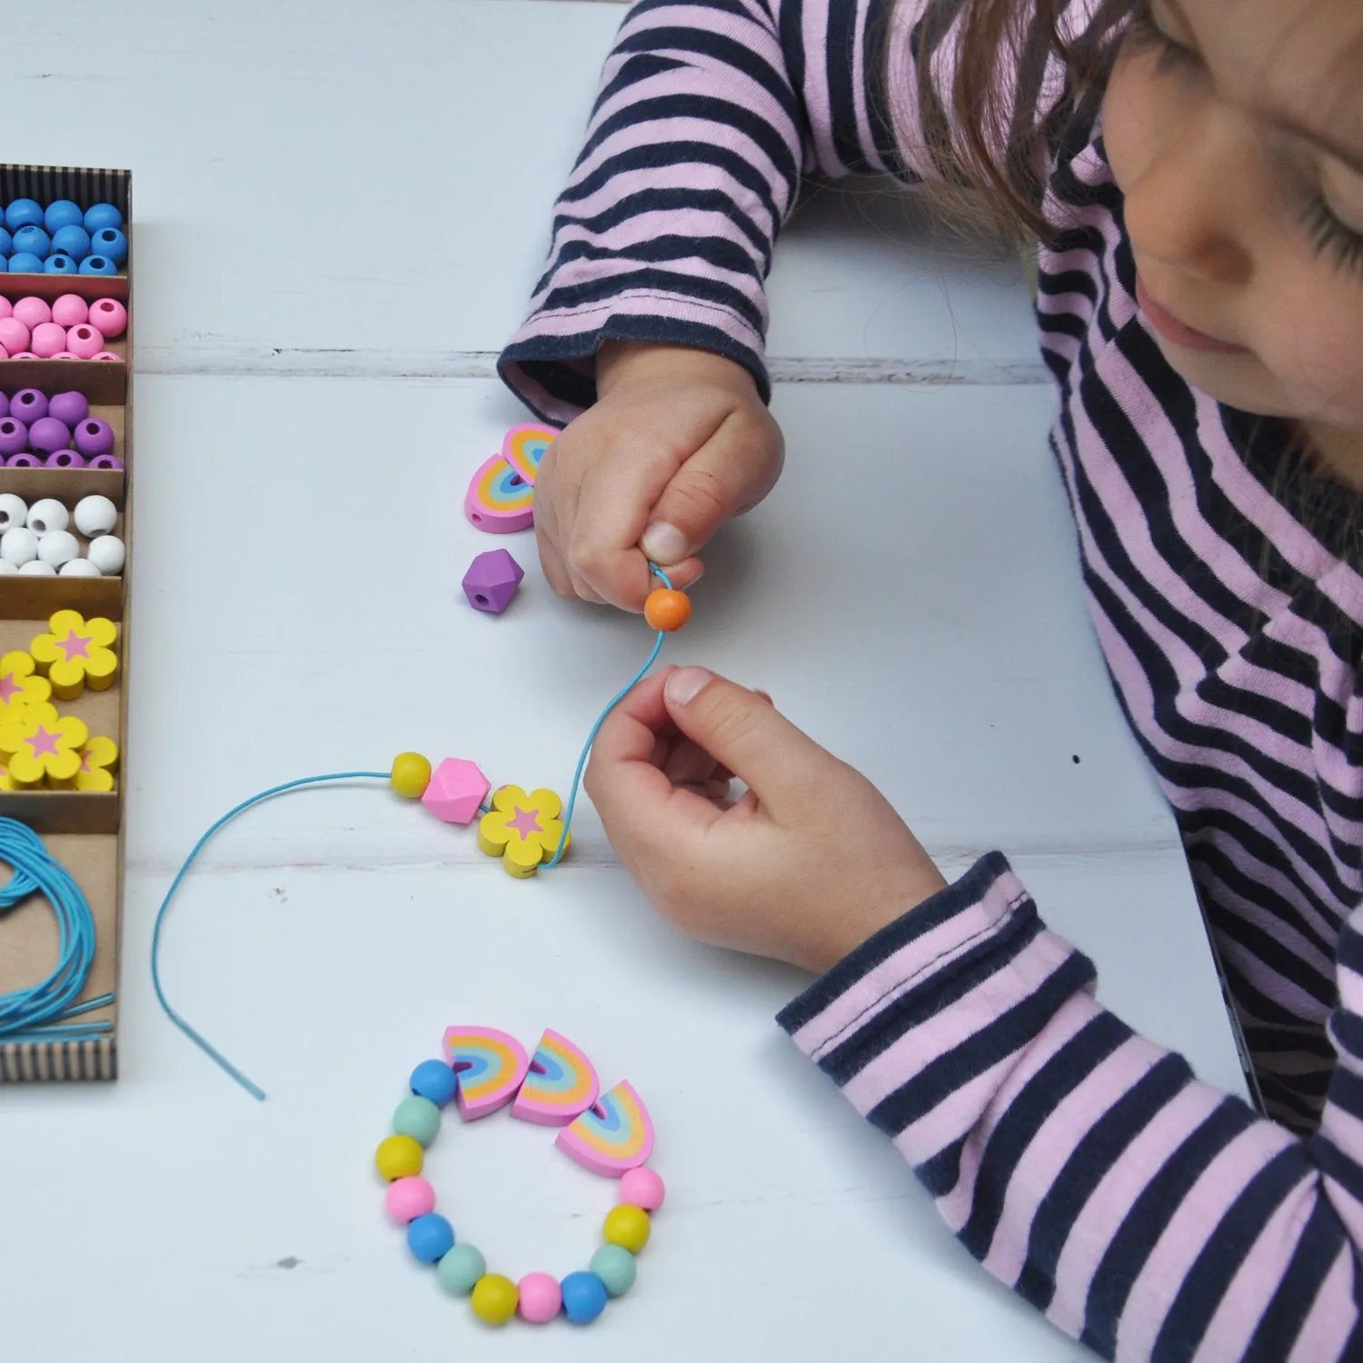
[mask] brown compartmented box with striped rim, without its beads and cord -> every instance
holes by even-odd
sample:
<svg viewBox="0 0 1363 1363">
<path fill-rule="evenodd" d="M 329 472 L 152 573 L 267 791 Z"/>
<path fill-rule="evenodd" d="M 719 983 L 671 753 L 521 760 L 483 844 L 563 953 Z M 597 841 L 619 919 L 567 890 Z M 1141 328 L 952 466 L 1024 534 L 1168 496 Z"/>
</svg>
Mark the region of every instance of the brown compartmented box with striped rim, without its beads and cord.
<svg viewBox="0 0 1363 1363">
<path fill-rule="evenodd" d="M 74 577 L 0 575 L 0 657 L 31 654 L 34 641 L 50 630 L 52 616 L 74 611 L 82 620 L 106 619 L 117 630 L 113 652 L 117 671 L 110 686 L 85 686 L 79 695 L 61 699 L 52 695 L 63 718 L 79 720 L 89 736 L 112 740 L 117 762 L 109 763 L 112 789 L 104 777 L 82 777 L 82 788 L 42 781 L 18 788 L 14 781 L 0 785 L 0 816 L 15 819 L 40 834 L 49 855 L 74 876 L 89 901 L 95 925 L 94 958 L 80 1000 L 114 995 L 119 977 L 119 936 L 123 895 L 123 812 L 125 791 L 127 668 L 129 570 L 134 559 L 132 483 L 132 177 L 127 170 L 95 170 L 70 166 L 0 166 L 0 207 L 31 199 L 46 207 L 70 200 L 83 211 L 95 204 L 113 204 L 123 217 L 129 254 L 120 273 L 52 274 L 0 273 L 0 296 L 10 304 L 19 298 L 42 298 L 49 305 L 65 294 L 89 303 L 113 298 L 127 309 L 127 328 L 106 339 L 104 353 L 117 358 L 0 358 L 0 393 L 7 399 L 22 390 L 52 397 L 79 393 L 89 401 L 89 418 L 106 423 L 113 433 L 113 468 L 11 466 L 0 461 L 0 495 L 14 493 L 27 506 L 53 499 L 71 512 L 85 497 L 108 497 L 116 508 L 112 534 L 127 548 L 121 571 Z M 31 307 L 31 305 L 30 305 Z M 117 311 L 117 309 L 112 309 Z M 0 356 L 4 352 L 0 350 Z M 91 427 L 94 429 L 94 427 Z M 94 461 L 91 461 L 94 462 Z M 104 461 L 108 463 L 109 461 Z M 121 463 L 121 468 L 117 465 Z M 89 537 L 75 521 L 80 553 Z M 94 557 L 94 555 L 91 555 Z M 64 622 L 70 617 L 63 617 Z M 41 650 L 40 650 L 41 652 Z M 42 671 L 40 664 L 38 671 Z M 91 673 L 93 676 L 93 673 Z M 3 680 L 3 679 L 0 679 Z M 11 688 L 12 690 L 12 688 Z M 67 688 L 70 690 L 70 688 Z M 108 754 L 108 747 L 102 750 Z M 89 759 L 86 759 L 89 761 Z M 86 769 L 83 761 L 83 770 Z M 98 759 L 97 759 L 98 761 Z M 5 754 L 0 752 L 0 766 Z M 8 880 L 10 866 L 0 864 L 0 887 Z M 0 915 L 0 995 L 26 990 L 44 980 L 57 964 L 59 928 L 52 908 L 31 897 Z M 117 1074 L 117 1005 L 108 1002 L 74 1020 L 97 1033 L 72 1040 L 75 1032 L 53 1033 L 50 1039 L 31 1035 L 5 1039 L 0 1030 L 0 1081 L 22 1079 L 112 1079 Z"/>
</svg>

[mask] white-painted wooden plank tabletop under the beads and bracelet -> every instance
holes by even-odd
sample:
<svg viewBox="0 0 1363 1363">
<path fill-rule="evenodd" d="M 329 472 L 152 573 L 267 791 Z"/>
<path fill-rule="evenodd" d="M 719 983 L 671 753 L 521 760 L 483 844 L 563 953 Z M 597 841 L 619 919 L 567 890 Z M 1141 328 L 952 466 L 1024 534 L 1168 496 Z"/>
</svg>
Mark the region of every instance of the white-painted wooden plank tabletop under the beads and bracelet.
<svg viewBox="0 0 1363 1363">
<path fill-rule="evenodd" d="M 123 1077 L 0 1090 L 7 1358 L 1086 1356 L 983 1274 L 785 1041 L 771 1017 L 803 979 L 660 924 L 589 804 L 570 861 L 529 883 L 382 789 L 229 829 L 162 960 L 263 1105 L 153 999 L 155 906 L 232 803 L 406 747 L 564 789 L 642 661 L 641 623 L 552 598 L 529 536 L 504 616 L 458 587 L 500 542 L 465 522 L 463 488 L 521 417 L 491 363 L 619 18 L 0 15 L 23 93 L 7 157 L 135 172 L 139 337 Z M 1240 1092 L 1178 840 L 1084 612 L 1024 285 L 934 255 L 902 203 L 859 228 L 864 202 L 821 196 L 778 258 L 788 473 L 714 547 L 667 656 L 770 690 L 949 872 L 1003 848 L 1101 996 Z M 527 1043 L 556 1026 L 652 1108 L 668 1206 L 590 1330 L 484 1338 L 382 1213 L 373 1145 L 457 1021 Z M 512 1276 L 585 1266 L 611 1201 L 507 1119 L 448 1122 L 428 1169 Z"/>
</svg>

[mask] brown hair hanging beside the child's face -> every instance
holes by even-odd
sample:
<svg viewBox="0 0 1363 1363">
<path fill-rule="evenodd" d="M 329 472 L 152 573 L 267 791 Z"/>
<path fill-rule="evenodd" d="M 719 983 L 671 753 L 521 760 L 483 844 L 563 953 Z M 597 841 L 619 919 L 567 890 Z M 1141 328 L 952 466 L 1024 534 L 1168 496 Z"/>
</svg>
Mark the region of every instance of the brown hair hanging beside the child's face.
<svg viewBox="0 0 1363 1363">
<path fill-rule="evenodd" d="M 1071 0 L 932 0 L 912 44 L 920 136 L 942 176 L 934 187 L 950 217 L 1005 240 L 1045 240 L 1047 147 L 1101 98 L 1141 0 L 1100 0 L 1078 33 L 1066 33 Z M 893 22 L 893 19 L 891 19 Z M 949 89 L 932 63 L 951 42 Z M 886 44 L 886 50 L 889 44 Z M 1044 116 L 1043 86 L 1063 74 L 1063 95 Z M 886 80 L 885 89 L 894 89 Z"/>
</svg>

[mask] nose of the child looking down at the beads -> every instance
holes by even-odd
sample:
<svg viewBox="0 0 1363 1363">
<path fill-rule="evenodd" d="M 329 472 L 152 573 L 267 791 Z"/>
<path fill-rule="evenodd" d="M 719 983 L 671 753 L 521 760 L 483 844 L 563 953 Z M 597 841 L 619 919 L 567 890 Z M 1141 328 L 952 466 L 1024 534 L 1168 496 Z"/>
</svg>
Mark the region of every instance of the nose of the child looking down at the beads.
<svg viewBox="0 0 1363 1363">
<path fill-rule="evenodd" d="M 1137 255 L 1213 284 L 1253 274 L 1246 239 L 1250 177 L 1234 120 L 1214 108 L 1164 129 L 1150 159 L 1126 188 L 1126 226 Z"/>
</svg>

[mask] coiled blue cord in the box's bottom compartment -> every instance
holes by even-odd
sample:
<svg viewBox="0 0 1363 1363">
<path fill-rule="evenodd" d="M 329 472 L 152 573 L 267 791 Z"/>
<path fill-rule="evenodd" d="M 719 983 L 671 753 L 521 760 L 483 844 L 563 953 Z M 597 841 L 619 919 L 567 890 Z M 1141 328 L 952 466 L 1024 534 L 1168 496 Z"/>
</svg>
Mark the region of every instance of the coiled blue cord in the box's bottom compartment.
<svg viewBox="0 0 1363 1363">
<path fill-rule="evenodd" d="M 30 827 L 0 818 L 0 861 L 14 867 L 10 883 L 0 890 L 0 909 L 11 909 L 41 894 L 57 919 L 57 965 L 41 984 L 14 994 L 0 994 L 0 1041 L 95 1041 L 113 1030 L 112 1022 L 67 1020 L 113 1003 L 112 994 L 76 1003 L 90 979 L 94 961 L 94 915 L 80 886 L 60 861 L 53 860 Z"/>
</svg>

